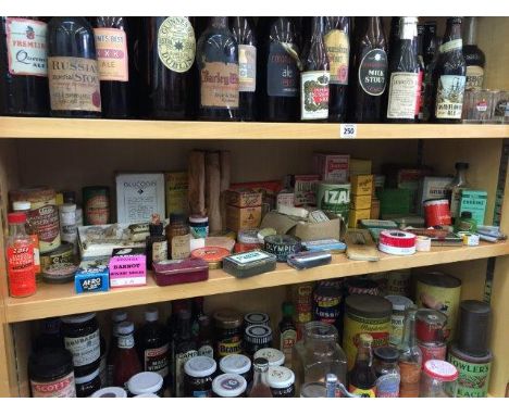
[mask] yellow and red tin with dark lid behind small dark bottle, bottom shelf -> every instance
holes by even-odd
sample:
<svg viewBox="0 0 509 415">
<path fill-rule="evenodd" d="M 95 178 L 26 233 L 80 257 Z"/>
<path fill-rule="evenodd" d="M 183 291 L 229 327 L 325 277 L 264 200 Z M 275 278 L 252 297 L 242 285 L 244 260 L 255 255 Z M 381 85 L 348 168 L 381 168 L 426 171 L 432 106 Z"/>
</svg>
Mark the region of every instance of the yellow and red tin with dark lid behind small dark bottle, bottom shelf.
<svg viewBox="0 0 509 415">
<path fill-rule="evenodd" d="M 373 348 L 388 345 L 390 331 L 390 301 L 376 295 L 352 294 L 345 300 L 345 328 L 343 349 L 348 360 L 348 370 L 356 362 L 359 336 L 373 337 Z"/>
</svg>

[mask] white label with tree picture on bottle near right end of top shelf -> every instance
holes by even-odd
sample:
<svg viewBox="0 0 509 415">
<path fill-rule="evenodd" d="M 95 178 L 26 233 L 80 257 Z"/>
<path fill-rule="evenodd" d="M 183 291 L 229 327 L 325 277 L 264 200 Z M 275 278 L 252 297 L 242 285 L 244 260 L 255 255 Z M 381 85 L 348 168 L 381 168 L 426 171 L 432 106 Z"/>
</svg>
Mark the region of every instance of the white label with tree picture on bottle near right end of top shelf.
<svg viewBox="0 0 509 415">
<path fill-rule="evenodd" d="M 460 120 L 467 78 L 461 75 L 442 75 L 436 92 L 435 116 Z"/>
</svg>

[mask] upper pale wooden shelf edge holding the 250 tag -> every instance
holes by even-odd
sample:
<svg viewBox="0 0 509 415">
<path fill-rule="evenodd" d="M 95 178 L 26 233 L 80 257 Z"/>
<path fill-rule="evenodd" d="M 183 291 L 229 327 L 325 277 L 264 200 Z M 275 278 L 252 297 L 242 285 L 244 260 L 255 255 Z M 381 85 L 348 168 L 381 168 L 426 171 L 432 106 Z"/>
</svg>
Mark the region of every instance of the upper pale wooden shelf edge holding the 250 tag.
<svg viewBox="0 0 509 415">
<path fill-rule="evenodd" d="M 307 140 L 339 139 L 339 124 L 224 123 L 140 120 L 0 117 L 0 138 Z M 500 139 L 501 124 L 357 124 L 356 139 Z"/>
</svg>

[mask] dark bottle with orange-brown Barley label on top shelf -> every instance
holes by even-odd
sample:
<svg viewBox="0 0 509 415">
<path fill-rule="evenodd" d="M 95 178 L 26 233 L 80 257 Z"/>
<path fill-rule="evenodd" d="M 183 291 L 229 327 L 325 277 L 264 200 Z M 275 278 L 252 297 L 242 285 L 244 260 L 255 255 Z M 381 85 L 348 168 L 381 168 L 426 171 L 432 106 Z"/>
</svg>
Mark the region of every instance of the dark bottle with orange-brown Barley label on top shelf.
<svg viewBox="0 0 509 415">
<path fill-rule="evenodd" d="M 198 40 L 201 120 L 238 120 L 238 46 L 227 21 L 211 17 Z"/>
</svg>

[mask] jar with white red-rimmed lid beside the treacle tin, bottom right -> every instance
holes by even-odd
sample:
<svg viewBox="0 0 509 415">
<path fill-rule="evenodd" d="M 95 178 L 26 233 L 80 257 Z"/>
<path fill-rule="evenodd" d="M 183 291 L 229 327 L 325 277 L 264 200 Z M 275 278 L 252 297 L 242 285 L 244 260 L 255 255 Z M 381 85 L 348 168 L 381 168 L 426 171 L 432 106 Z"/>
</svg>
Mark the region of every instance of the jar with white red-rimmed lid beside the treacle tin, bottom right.
<svg viewBox="0 0 509 415">
<path fill-rule="evenodd" d="M 456 398 L 458 369 L 448 362 L 431 360 L 424 365 L 419 398 Z"/>
</svg>

